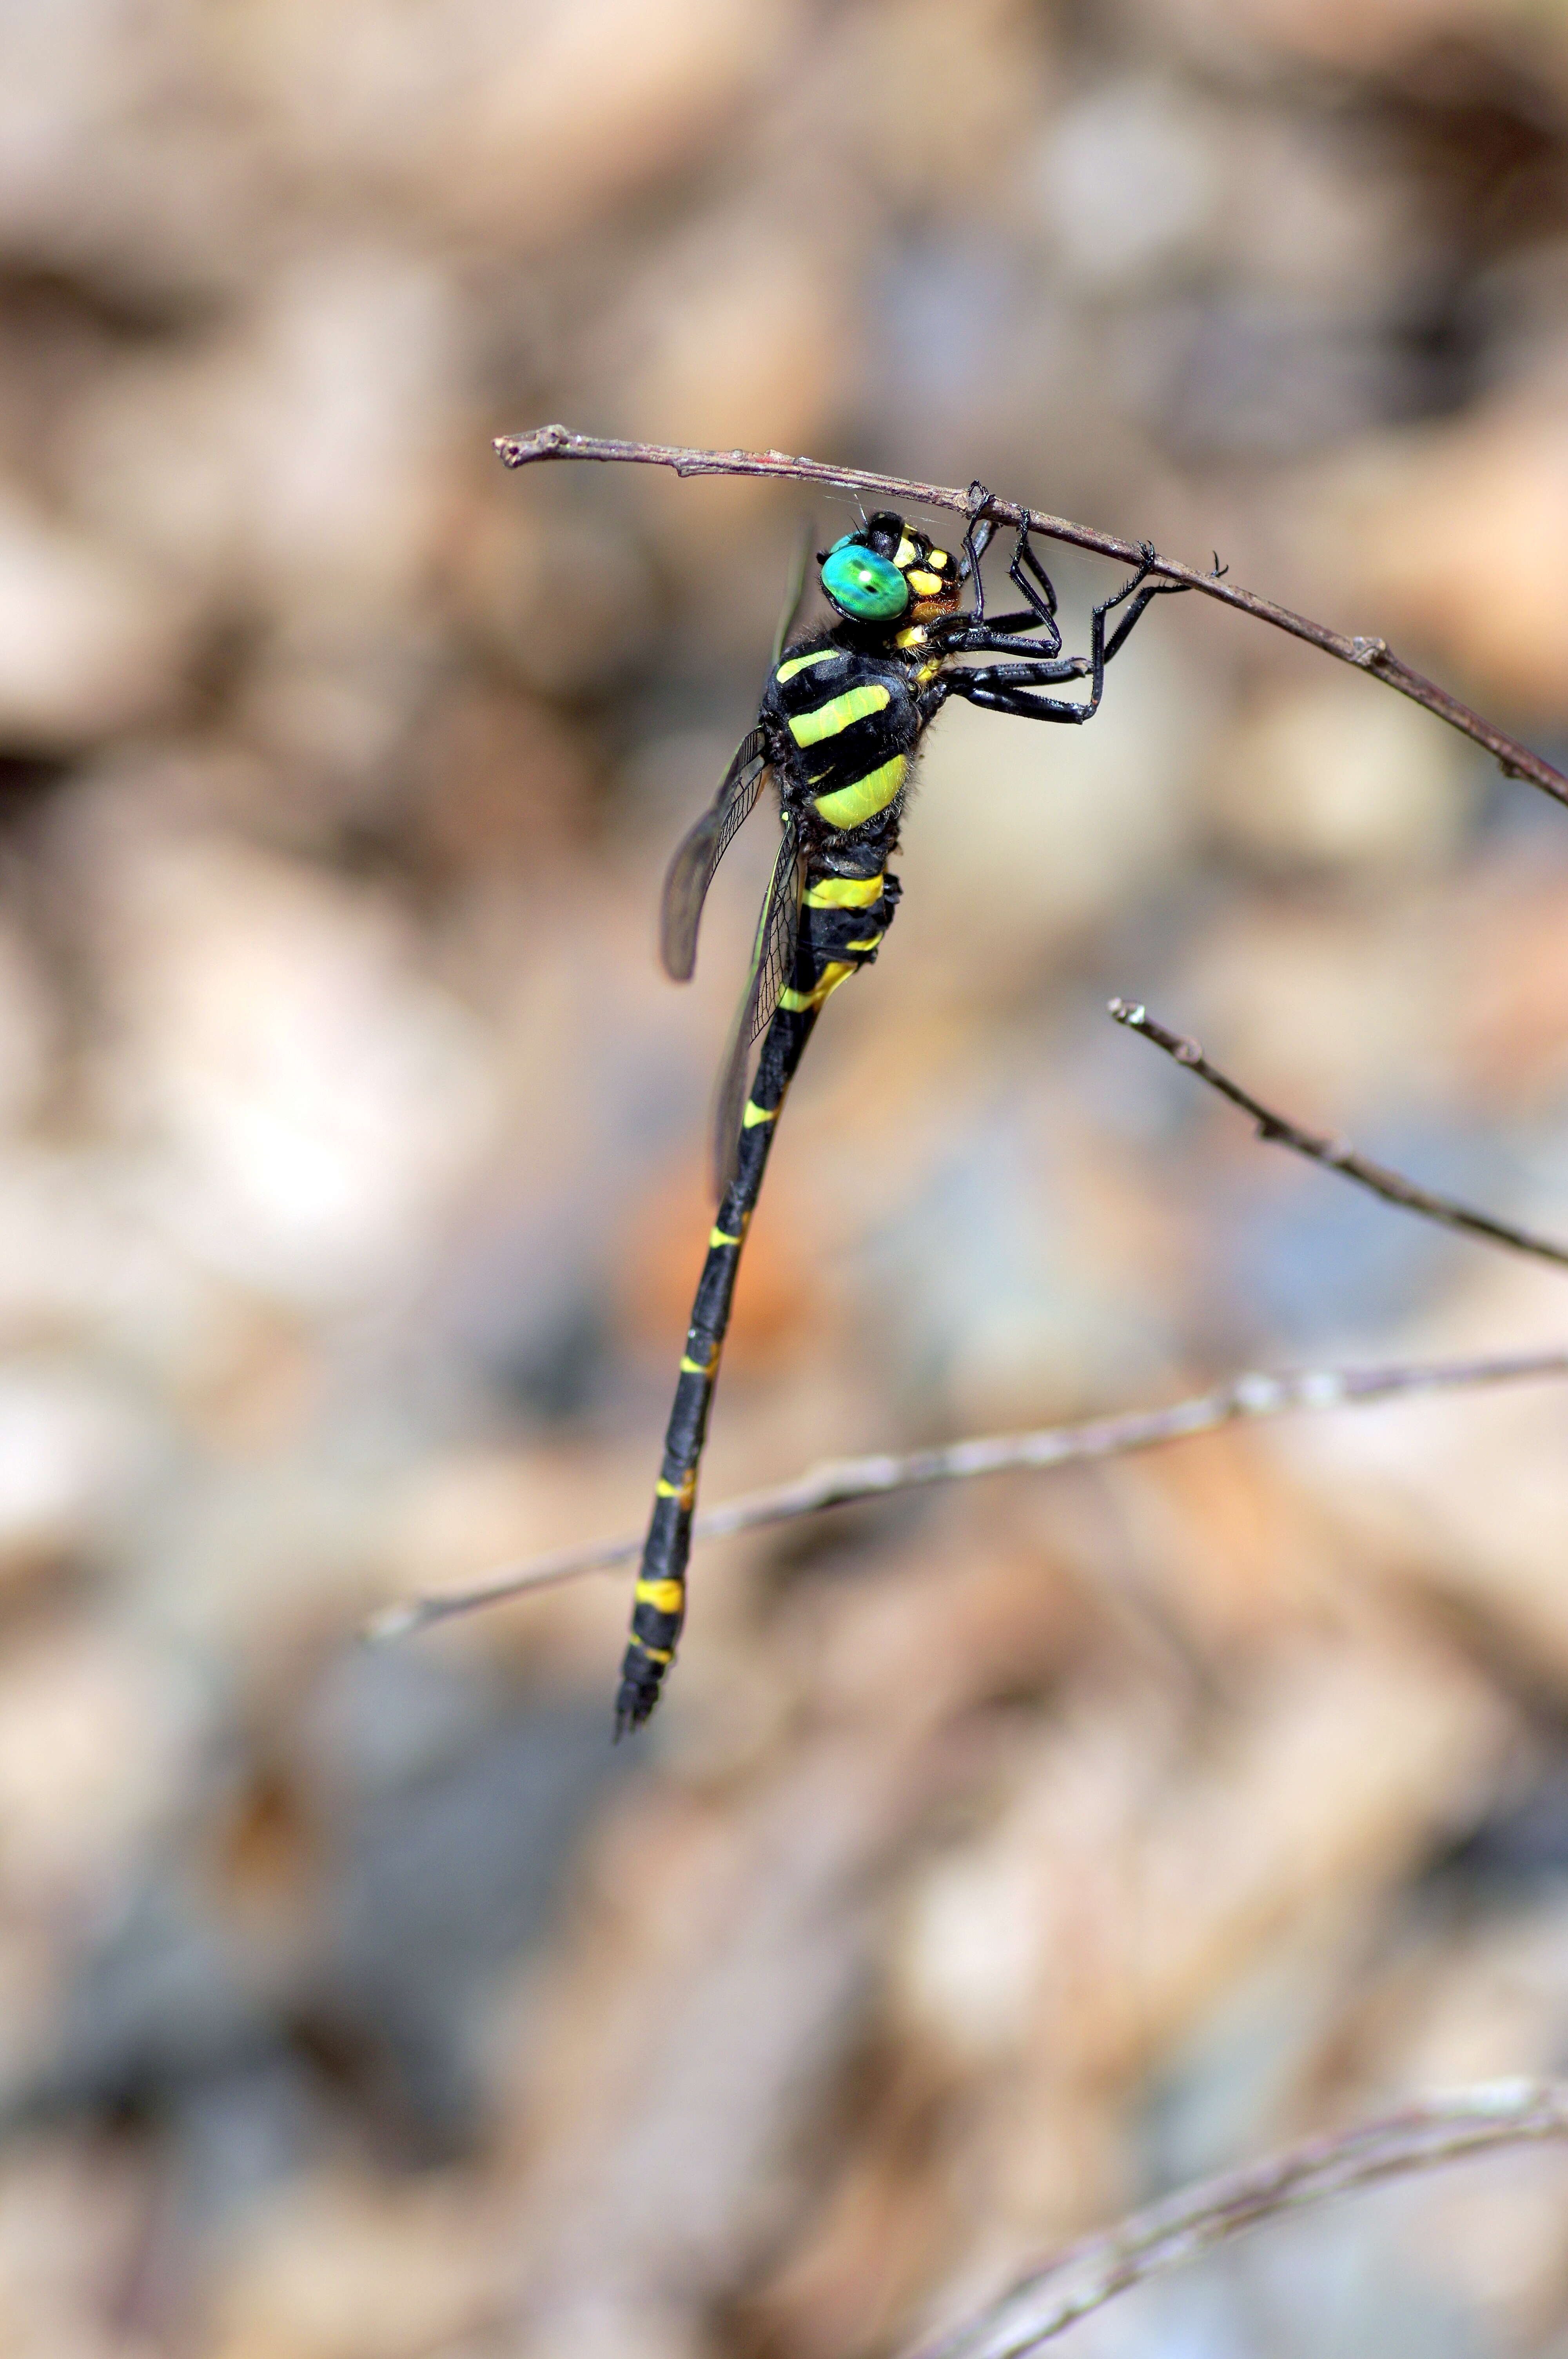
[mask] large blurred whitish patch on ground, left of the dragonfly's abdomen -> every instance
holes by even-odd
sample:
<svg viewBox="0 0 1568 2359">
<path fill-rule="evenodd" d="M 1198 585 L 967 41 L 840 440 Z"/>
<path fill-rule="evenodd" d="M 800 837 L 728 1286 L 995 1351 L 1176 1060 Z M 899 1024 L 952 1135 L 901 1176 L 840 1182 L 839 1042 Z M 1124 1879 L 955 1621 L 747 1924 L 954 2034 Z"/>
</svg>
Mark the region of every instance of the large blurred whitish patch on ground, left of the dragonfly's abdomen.
<svg viewBox="0 0 1568 2359">
<path fill-rule="evenodd" d="M 125 845 L 104 920 L 104 1087 L 186 1250 L 302 1302 L 396 1281 L 498 1099 L 481 1029 L 391 903 L 170 835 Z"/>
</svg>

